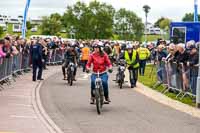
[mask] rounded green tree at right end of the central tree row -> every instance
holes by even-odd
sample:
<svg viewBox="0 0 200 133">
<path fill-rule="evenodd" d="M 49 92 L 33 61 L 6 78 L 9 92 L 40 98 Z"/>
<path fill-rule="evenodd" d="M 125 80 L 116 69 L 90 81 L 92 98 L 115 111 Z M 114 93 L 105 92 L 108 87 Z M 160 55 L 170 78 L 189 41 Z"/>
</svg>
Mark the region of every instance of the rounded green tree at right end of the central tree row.
<svg viewBox="0 0 200 133">
<path fill-rule="evenodd" d="M 140 40 L 143 35 L 144 24 L 134 12 L 122 8 L 115 14 L 114 31 L 120 39 Z"/>
</svg>

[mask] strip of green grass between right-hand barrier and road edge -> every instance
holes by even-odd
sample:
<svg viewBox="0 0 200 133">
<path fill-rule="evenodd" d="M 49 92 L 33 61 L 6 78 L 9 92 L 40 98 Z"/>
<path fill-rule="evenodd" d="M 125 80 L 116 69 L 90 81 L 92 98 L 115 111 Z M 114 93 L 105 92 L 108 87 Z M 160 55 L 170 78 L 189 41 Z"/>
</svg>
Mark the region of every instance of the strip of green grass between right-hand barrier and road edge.
<svg viewBox="0 0 200 133">
<path fill-rule="evenodd" d="M 154 67 L 154 68 L 153 68 L 152 76 L 150 77 L 152 67 Z M 156 81 L 157 81 L 157 77 L 156 77 L 155 66 L 147 65 L 146 70 L 145 70 L 145 76 L 139 76 L 139 82 L 153 89 L 153 86 L 155 85 Z M 161 85 L 161 86 L 159 86 L 159 87 L 157 87 L 156 89 L 153 89 L 153 90 L 156 90 L 156 91 L 161 93 L 161 91 L 163 89 L 164 89 L 164 86 Z M 185 103 L 185 104 L 188 104 L 190 106 L 195 106 L 195 103 L 192 102 L 192 98 L 190 96 L 186 96 L 185 98 L 183 98 L 181 100 L 180 98 L 176 98 L 177 94 L 175 94 L 175 93 L 167 92 L 163 95 L 166 95 L 169 98 L 172 98 L 174 100 L 180 101 L 180 102 Z"/>
</svg>

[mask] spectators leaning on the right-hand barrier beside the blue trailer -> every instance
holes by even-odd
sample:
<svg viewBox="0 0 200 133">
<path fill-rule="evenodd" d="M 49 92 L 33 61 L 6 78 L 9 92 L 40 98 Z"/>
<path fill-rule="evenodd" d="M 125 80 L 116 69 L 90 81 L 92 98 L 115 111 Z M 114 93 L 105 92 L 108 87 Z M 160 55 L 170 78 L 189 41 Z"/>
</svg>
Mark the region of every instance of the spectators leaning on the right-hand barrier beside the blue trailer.
<svg viewBox="0 0 200 133">
<path fill-rule="evenodd" d="M 158 41 L 157 46 L 150 48 L 157 64 L 158 80 L 172 88 L 196 95 L 199 45 L 193 40 L 185 44 Z"/>
</svg>

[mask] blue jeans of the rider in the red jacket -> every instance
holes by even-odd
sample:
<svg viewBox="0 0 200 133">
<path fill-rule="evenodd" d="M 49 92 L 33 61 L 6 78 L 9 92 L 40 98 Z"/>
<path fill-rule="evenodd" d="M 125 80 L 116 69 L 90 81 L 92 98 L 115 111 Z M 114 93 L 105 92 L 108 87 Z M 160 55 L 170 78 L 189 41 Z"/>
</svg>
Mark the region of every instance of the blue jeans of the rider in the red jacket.
<svg viewBox="0 0 200 133">
<path fill-rule="evenodd" d="M 92 74 L 91 75 L 91 96 L 95 97 L 93 90 L 95 90 L 95 80 L 96 80 L 97 75 Z M 104 96 L 105 98 L 109 97 L 109 92 L 108 92 L 108 74 L 104 73 L 100 75 L 100 78 L 102 80 L 102 85 L 103 85 L 103 90 L 104 90 Z"/>
</svg>

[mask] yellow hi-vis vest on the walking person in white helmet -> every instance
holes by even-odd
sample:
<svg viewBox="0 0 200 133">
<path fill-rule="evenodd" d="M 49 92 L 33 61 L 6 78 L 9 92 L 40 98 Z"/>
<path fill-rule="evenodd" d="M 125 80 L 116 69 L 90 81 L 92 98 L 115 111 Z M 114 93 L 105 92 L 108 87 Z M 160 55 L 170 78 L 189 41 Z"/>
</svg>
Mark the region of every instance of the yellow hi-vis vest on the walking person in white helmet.
<svg viewBox="0 0 200 133">
<path fill-rule="evenodd" d="M 137 51 L 133 50 L 132 53 L 132 59 L 130 59 L 128 51 L 125 51 L 125 60 L 127 62 L 127 64 L 130 66 L 131 64 L 133 64 L 136 61 L 136 56 L 137 56 Z M 138 68 L 139 67 L 139 63 L 136 63 L 133 68 Z"/>
</svg>

